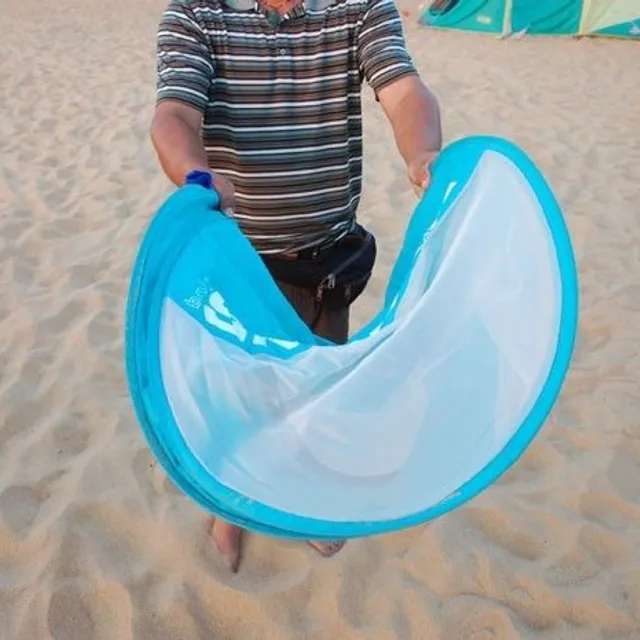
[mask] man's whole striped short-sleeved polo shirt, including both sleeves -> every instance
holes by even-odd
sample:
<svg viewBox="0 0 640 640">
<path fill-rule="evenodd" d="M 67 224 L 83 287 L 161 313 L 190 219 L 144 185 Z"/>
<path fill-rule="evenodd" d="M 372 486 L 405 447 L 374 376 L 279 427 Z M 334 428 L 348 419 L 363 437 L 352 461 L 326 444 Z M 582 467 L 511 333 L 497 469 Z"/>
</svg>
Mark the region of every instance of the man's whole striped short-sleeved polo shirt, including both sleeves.
<svg viewBox="0 0 640 640">
<path fill-rule="evenodd" d="M 171 0 L 157 35 L 157 99 L 203 113 L 210 168 L 263 254 L 339 239 L 362 187 L 363 80 L 415 66 L 393 0 L 306 0 L 283 17 L 253 0 Z"/>
</svg>

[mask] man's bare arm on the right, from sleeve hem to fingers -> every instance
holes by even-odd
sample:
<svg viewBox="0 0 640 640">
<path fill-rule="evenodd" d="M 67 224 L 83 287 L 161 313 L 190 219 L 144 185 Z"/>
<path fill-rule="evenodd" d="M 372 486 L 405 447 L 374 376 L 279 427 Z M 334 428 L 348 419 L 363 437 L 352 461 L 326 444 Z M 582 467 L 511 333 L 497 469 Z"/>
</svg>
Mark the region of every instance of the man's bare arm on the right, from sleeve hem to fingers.
<svg viewBox="0 0 640 640">
<path fill-rule="evenodd" d="M 383 87 L 378 99 L 393 127 L 407 175 L 421 195 L 431 181 L 430 167 L 442 147 L 438 102 L 417 75 L 408 75 Z"/>
</svg>

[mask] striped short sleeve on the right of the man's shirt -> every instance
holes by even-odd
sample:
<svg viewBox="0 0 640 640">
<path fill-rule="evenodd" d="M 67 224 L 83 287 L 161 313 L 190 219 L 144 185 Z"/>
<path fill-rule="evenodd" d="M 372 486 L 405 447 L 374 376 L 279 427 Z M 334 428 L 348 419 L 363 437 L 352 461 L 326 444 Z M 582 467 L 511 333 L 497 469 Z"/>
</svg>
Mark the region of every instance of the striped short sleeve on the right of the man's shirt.
<svg viewBox="0 0 640 640">
<path fill-rule="evenodd" d="M 393 0 L 370 0 L 357 46 L 360 68 L 376 94 L 402 76 L 417 74 Z"/>
</svg>

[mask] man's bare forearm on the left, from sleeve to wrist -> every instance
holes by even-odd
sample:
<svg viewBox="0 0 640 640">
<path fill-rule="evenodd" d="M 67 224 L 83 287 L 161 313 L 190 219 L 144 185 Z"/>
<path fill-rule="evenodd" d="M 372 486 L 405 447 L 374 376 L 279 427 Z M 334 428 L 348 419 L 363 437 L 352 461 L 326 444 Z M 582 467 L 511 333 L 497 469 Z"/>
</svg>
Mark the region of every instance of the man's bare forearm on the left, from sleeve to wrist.
<svg viewBox="0 0 640 640">
<path fill-rule="evenodd" d="M 191 123 L 176 114 L 156 116 L 151 139 L 163 171 L 175 185 L 193 169 L 207 168 L 207 153 L 200 133 Z"/>
</svg>

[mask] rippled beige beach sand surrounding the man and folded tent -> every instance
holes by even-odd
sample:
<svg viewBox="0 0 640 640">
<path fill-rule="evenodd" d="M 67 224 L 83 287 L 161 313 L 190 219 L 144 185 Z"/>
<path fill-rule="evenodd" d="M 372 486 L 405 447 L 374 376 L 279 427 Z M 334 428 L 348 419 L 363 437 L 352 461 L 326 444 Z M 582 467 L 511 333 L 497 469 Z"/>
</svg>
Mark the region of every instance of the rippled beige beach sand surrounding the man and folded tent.
<svg viewBox="0 0 640 640">
<path fill-rule="evenodd" d="M 429 526 L 325 561 L 251 536 L 229 575 L 150 455 L 123 376 L 163 0 L 5 0 L 0 17 L 0 639 L 640 638 L 640 48 L 427 32 L 447 141 L 521 144 L 564 208 L 580 334 L 520 462 Z M 415 198 L 365 91 L 380 302 Z"/>
</svg>

